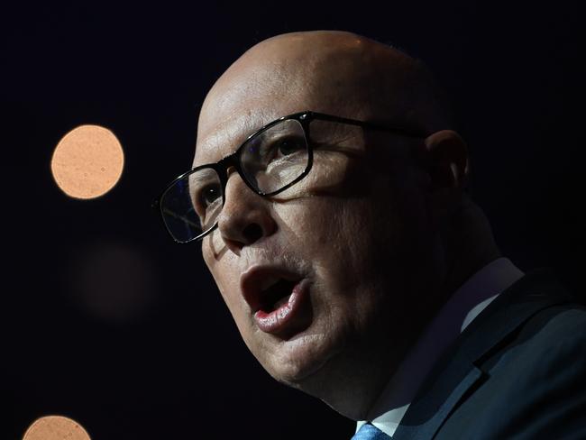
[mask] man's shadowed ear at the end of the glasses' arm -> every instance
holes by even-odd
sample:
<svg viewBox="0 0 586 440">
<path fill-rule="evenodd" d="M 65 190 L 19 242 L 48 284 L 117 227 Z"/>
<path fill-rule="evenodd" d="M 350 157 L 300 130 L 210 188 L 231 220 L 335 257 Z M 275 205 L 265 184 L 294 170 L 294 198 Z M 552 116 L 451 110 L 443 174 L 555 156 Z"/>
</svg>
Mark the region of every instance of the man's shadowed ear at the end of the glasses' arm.
<svg viewBox="0 0 586 440">
<path fill-rule="evenodd" d="M 464 188 L 469 172 L 468 148 L 453 130 L 426 138 L 429 175 L 434 188 Z"/>
</svg>

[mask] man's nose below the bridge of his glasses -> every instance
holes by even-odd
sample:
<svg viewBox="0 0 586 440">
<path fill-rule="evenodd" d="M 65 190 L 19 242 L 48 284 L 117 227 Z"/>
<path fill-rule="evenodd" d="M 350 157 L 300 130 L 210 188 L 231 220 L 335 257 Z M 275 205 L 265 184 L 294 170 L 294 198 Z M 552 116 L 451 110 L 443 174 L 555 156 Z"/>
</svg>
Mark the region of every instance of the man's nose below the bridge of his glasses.
<svg viewBox="0 0 586 440">
<path fill-rule="evenodd" d="M 228 179 L 224 197 L 217 225 L 222 240 L 233 253 L 240 255 L 244 246 L 277 230 L 270 200 L 253 192 L 236 173 Z"/>
</svg>

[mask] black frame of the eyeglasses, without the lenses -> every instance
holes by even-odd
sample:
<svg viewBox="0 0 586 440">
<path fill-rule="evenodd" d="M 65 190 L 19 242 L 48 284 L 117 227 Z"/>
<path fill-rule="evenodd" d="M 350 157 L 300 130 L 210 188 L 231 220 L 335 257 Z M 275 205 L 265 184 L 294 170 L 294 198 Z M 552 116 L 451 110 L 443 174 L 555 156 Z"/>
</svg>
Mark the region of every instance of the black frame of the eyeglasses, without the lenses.
<svg viewBox="0 0 586 440">
<path fill-rule="evenodd" d="M 303 128 L 303 131 L 304 131 L 304 134 L 306 137 L 306 142 L 307 142 L 307 167 L 305 170 L 303 170 L 303 172 L 301 174 L 299 174 L 298 178 L 291 180 L 290 182 L 288 182 L 288 184 L 286 184 L 282 188 L 279 188 L 275 191 L 271 191 L 269 193 L 265 193 L 258 188 L 254 188 L 254 186 L 252 185 L 252 182 L 250 182 L 249 179 L 246 178 L 246 175 L 242 169 L 240 156 L 242 155 L 244 146 L 246 144 L 248 144 L 252 140 L 252 138 L 267 131 L 273 125 L 279 124 L 279 123 L 281 123 L 283 121 L 287 121 L 287 120 L 298 121 L 298 123 L 301 124 L 301 127 Z M 246 186 L 248 188 L 251 188 L 251 190 L 254 193 L 258 194 L 261 197 L 275 196 L 275 195 L 279 194 L 280 192 L 285 191 L 288 188 L 291 188 L 293 185 L 298 183 L 299 180 L 305 178 L 307 176 L 307 174 L 309 174 L 309 171 L 311 170 L 311 168 L 313 166 L 313 162 L 314 162 L 314 150 L 313 150 L 312 142 L 310 142 L 309 124 L 311 124 L 311 122 L 314 120 L 355 125 L 355 126 L 359 126 L 359 127 L 368 129 L 368 130 L 397 133 L 397 134 L 407 136 L 407 137 L 416 137 L 416 138 L 426 137 L 426 133 L 424 133 L 423 131 L 419 131 L 417 129 L 400 127 L 398 125 L 374 124 L 374 123 L 370 123 L 370 122 L 366 122 L 366 121 L 359 121 L 356 119 L 349 119 L 349 118 L 334 116 L 334 115 L 326 115 L 323 113 L 316 113 L 316 112 L 312 112 L 312 111 L 299 112 L 299 113 L 295 113 L 293 115 L 279 117 L 279 119 L 276 119 L 269 124 L 263 125 L 256 132 L 249 135 L 244 140 L 244 142 L 236 149 L 236 151 L 234 151 L 232 154 L 225 156 L 224 158 L 222 158 L 221 160 L 218 160 L 215 163 L 207 163 L 204 165 L 200 165 L 196 168 L 188 170 L 187 172 L 184 172 L 183 174 L 179 175 L 177 178 L 173 179 L 169 183 L 169 185 L 167 185 L 160 192 L 159 197 L 156 197 L 154 199 L 154 201 L 152 202 L 152 208 L 159 211 L 160 220 L 162 221 L 163 225 L 165 226 L 165 229 L 167 230 L 167 232 L 169 233 L 169 235 L 171 236 L 173 241 L 176 243 L 180 243 L 180 244 L 186 244 L 186 243 L 194 242 L 196 240 L 201 240 L 207 234 L 210 234 L 212 231 L 214 231 L 218 225 L 217 219 L 216 219 L 215 224 L 213 226 L 206 229 L 206 231 L 202 232 L 201 234 L 197 235 L 196 237 L 188 240 L 187 242 L 181 242 L 175 238 L 175 236 L 169 230 L 167 223 L 165 222 L 163 207 L 161 206 L 160 202 L 161 202 L 162 198 L 165 196 L 165 194 L 167 193 L 167 191 L 169 191 L 169 189 L 172 188 L 179 180 L 185 179 L 187 176 L 189 176 L 199 170 L 204 170 L 204 169 L 208 169 L 208 168 L 215 170 L 215 173 L 220 178 L 220 183 L 222 186 L 222 206 L 224 206 L 224 203 L 225 203 L 224 192 L 225 192 L 226 185 L 228 183 L 228 169 L 230 167 L 233 167 L 233 169 L 236 170 L 236 172 L 238 173 L 240 178 L 243 179 L 243 182 L 246 184 Z"/>
</svg>

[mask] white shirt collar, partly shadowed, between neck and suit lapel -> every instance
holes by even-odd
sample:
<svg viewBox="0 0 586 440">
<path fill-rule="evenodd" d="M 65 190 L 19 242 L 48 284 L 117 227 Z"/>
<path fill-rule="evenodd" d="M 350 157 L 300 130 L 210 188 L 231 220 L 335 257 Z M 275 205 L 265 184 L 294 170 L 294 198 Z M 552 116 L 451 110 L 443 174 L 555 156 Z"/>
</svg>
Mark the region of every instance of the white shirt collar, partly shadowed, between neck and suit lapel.
<svg viewBox="0 0 586 440">
<path fill-rule="evenodd" d="M 356 431 L 370 421 L 382 432 L 392 436 L 415 397 L 417 388 L 444 349 L 494 298 L 523 275 L 510 260 L 499 258 L 464 282 L 426 327 L 417 344 L 407 353 L 407 357 L 369 412 L 369 420 L 359 421 Z"/>
</svg>

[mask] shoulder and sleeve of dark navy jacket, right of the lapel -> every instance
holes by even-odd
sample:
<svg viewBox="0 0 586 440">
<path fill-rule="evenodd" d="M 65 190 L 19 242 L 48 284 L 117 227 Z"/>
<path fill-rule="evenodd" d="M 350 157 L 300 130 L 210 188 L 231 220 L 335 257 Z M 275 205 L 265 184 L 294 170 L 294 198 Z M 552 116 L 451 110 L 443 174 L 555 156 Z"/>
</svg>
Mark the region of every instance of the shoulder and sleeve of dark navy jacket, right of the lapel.
<svg viewBox="0 0 586 440">
<path fill-rule="evenodd" d="M 474 438 L 586 437 L 586 309 L 542 309 L 503 343 L 460 408 Z"/>
</svg>

